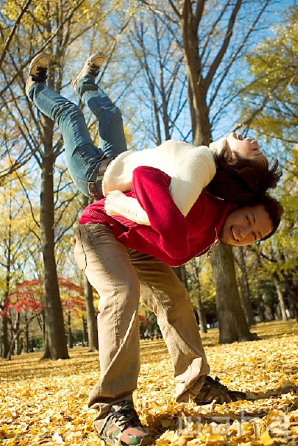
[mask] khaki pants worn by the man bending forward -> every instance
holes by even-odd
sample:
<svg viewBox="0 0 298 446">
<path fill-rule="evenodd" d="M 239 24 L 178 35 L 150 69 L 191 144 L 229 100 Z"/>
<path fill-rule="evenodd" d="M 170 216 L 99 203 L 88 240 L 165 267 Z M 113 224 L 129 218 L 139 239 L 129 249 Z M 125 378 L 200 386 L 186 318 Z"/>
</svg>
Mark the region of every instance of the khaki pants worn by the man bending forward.
<svg viewBox="0 0 298 446">
<path fill-rule="evenodd" d="M 209 374 L 185 286 L 156 257 L 125 247 L 102 224 L 80 224 L 75 258 L 100 295 L 97 316 L 101 376 L 88 405 L 97 418 L 111 404 L 132 399 L 140 369 L 139 299 L 157 315 L 173 362 L 177 401 L 194 398 Z"/>
</svg>

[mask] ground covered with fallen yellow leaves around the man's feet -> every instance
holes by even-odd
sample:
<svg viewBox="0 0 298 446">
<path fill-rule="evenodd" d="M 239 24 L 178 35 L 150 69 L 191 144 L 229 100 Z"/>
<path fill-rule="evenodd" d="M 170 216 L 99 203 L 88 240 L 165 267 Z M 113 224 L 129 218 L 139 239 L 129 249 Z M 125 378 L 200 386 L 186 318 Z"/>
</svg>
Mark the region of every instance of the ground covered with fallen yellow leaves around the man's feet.
<svg viewBox="0 0 298 446">
<path fill-rule="evenodd" d="M 262 339 L 217 344 L 203 335 L 213 377 L 249 401 L 177 404 L 164 341 L 141 341 L 135 406 L 157 446 L 298 445 L 298 324 L 265 323 Z M 41 353 L 0 360 L 0 444 L 103 445 L 86 403 L 98 378 L 97 354 L 73 348 L 70 360 L 40 361 Z"/>
</svg>

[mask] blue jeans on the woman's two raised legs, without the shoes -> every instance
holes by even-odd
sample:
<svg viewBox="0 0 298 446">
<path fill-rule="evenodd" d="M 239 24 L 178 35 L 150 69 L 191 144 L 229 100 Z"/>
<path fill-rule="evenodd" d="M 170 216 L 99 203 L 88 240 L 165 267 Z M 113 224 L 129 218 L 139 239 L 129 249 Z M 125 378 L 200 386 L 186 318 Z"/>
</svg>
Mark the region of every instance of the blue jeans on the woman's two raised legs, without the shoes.
<svg viewBox="0 0 298 446">
<path fill-rule="evenodd" d="M 58 124 L 70 176 L 79 191 L 87 197 L 100 199 L 100 195 L 96 195 L 97 191 L 101 193 L 100 163 L 106 157 L 127 150 L 122 116 L 118 107 L 95 84 L 95 77 L 82 77 L 77 84 L 77 92 L 98 120 L 99 147 L 93 144 L 81 109 L 70 100 L 39 82 L 31 85 L 29 98 L 40 112 Z"/>
</svg>

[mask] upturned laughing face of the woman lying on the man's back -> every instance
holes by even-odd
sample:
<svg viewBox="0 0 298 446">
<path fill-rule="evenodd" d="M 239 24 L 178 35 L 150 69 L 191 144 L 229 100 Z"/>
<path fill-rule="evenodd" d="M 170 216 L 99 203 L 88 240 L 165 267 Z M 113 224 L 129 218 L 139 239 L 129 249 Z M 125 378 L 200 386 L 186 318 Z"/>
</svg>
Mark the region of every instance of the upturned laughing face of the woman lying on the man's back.
<svg viewBox="0 0 298 446">
<path fill-rule="evenodd" d="M 241 134 L 231 132 L 227 138 L 228 160 L 233 164 L 233 160 L 237 162 L 235 153 L 241 155 L 246 160 L 258 160 L 267 163 L 267 157 L 260 151 L 258 141 L 251 138 L 242 138 Z"/>
</svg>

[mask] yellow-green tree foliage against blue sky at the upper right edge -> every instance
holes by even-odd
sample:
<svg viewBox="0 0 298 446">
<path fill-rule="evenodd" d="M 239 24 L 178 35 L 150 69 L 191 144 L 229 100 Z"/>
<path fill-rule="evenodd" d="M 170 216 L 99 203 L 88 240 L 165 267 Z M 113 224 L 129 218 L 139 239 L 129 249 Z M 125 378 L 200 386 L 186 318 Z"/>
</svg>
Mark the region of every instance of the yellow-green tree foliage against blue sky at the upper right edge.
<svg viewBox="0 0 298 446">
<path fill-rule="evenodd" d="M 272 27 L 272 37 L 248 52 L 246 61 L 251 82 L 241 93 L 240 109 L 246 118 L 252 117 L 250 127 L 264 141 L 272 144 L 277 139 L 283 144 L 282 151 L 281 146 L 274 146 L 281 160 L 283 152 L 287 154 L 287 147 L 297 144 L 297 20 L 297 6 L 291 6 L 284 22 Z"/>
</svg>

